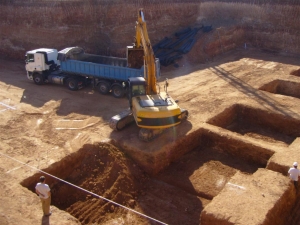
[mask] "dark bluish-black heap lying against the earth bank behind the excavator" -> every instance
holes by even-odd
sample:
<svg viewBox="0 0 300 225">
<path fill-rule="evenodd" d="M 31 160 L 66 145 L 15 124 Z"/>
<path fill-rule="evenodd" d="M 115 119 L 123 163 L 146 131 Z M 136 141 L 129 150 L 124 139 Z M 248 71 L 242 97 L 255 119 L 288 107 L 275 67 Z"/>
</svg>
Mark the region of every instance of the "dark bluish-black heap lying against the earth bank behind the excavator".
<svg viewBox="0 0 300 225">
<path fill-rule="evenodd" d="M 209 32 L 212 30 L 212 26 L 202 26 L 200 28 L 187 27 L 176 32 L 173 37 L 165 37 L 154 45 L 153 51 L 155 57 L 159 58 L 160 64 L 168 66 L 188 53 L 196 43 L 196 35 L 200 30 L 202 32 Z"/>
</svg>

